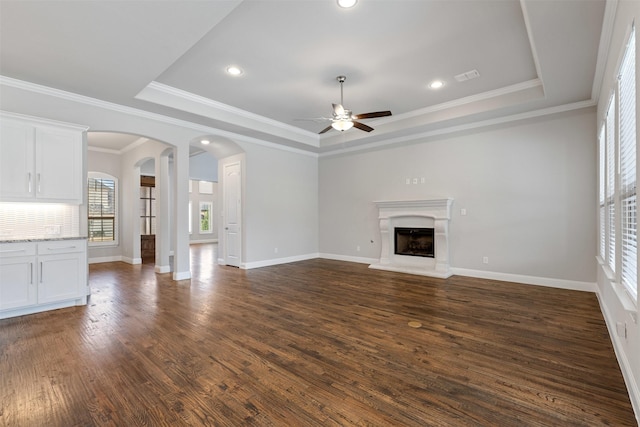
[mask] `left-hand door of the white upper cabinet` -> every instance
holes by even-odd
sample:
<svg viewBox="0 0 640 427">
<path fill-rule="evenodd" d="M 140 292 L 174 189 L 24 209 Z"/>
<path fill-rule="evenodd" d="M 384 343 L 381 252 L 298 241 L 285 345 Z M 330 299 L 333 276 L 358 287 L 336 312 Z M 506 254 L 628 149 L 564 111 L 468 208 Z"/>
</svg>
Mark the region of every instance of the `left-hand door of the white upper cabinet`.
<svg viewBox="0 0 640 427">
<path fill-rule="evenodd" d="M 34 183 L 33 126 L 0 120 L 0 199 L 33 199 Z"/>
</svg>

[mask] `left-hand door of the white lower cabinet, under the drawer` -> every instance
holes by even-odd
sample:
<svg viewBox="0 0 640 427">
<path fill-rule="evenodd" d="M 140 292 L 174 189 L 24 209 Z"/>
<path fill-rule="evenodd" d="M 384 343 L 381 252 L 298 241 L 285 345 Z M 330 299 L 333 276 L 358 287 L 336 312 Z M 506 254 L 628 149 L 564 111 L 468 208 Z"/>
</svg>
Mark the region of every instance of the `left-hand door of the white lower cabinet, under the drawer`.
<svg viewBox="0 0 640 427">
<path fill-rule="evenodd" d="M 35 257 L 0 258 L 0 310 L 37 303 Z"/>
</svg>

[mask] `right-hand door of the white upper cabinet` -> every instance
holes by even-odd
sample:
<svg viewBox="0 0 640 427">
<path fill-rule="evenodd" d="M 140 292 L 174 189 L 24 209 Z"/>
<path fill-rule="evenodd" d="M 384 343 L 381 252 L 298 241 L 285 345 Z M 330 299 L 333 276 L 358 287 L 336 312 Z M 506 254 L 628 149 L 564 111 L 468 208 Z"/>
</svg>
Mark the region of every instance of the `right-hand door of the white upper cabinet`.
<svg viewBox="0 0 640 427">
<path fill-rule="evenodd" d="M 36 197 L 82 203 L 82 133 L 37 127 L 35 147 Z"/>
</svg>

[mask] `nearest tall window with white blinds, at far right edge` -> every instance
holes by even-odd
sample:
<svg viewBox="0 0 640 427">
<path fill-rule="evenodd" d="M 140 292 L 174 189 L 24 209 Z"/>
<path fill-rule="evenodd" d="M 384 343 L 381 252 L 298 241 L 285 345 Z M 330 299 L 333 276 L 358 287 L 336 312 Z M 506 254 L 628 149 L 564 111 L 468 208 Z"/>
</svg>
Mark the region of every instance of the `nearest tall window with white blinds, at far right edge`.
<svg viewBox="0 0 640 427">
<path fill-rule="evenodd" d="M 621 281 L 638 298 L 638 222 L 636 205 L 636 46 L 632 31 L 618 77 Z"/>
</svg>

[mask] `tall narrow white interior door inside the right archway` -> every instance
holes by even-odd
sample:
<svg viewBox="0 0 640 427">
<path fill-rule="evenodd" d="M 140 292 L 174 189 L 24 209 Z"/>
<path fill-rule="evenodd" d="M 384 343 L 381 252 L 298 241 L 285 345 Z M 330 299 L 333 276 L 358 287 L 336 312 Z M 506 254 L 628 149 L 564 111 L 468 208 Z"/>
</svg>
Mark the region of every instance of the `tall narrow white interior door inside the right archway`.
<svg viewBox="0 0 640 427">
<path fill-rule="evenodd" d="M 242 168 L 240 162 L 224 165 L 224 261 L 226 265 L 240 267 L 242 252 Z"/>
</svg>

